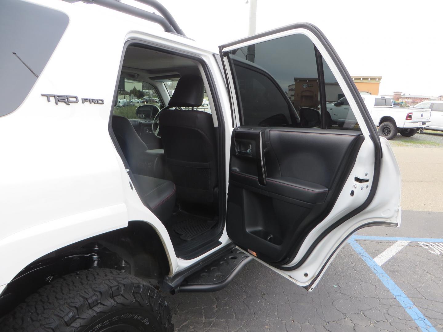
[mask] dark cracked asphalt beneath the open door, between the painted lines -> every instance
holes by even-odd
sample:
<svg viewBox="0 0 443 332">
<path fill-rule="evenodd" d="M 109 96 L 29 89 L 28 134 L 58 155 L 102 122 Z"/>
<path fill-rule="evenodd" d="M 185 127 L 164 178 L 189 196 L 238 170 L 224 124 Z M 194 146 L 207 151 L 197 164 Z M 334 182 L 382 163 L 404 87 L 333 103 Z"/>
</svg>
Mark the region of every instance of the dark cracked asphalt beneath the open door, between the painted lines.
<svg viewBox="0 0 443 332">
<path fill-rule="evenodd" d="M 358 235 L 443 238 L 442 212 L 404 211 L 400 228 Z M 392 242 L 358 240 L 371 257 Z M 443 330 L 443 254 L 409 243 L 382 268 L 437 331 Z M 260 263 L 249 263 L 215 293 L 166 295 L 176 331 L 420 331 L 349 244 L 307 292 Z"/>
</svg>

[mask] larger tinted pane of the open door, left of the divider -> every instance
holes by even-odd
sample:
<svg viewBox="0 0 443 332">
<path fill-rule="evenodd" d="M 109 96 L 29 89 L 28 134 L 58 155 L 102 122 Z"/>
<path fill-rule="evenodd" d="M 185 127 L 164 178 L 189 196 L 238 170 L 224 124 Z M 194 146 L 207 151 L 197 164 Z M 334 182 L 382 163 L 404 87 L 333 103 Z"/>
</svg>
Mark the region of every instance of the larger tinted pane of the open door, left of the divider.
<svg viewBox="0 0 443 332">
<path fill-rule="evenodd" d="M 302 107 L 317 109 L 319 82 L 314 45 L 291 35 L 230 52 L 242 124 L 293 125 Z"/>
</svg>

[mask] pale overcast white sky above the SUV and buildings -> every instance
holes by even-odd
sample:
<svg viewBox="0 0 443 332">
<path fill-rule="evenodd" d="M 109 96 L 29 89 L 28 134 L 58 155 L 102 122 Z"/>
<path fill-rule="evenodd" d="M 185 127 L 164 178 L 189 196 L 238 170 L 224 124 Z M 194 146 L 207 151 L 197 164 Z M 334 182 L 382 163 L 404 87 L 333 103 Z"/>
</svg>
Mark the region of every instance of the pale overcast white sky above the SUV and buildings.
<svg viewBox="0 0 443 332">
<path fill-rule="evenodd" d="M 188 37 L 214 47 L 248 34 L 246 0 L 160 0 Z M 443 94 L 442 0 L 258 0 L 256 32 L 320 28 L 351 75 L 382 76 L 380 94 Z"/>
</svg>

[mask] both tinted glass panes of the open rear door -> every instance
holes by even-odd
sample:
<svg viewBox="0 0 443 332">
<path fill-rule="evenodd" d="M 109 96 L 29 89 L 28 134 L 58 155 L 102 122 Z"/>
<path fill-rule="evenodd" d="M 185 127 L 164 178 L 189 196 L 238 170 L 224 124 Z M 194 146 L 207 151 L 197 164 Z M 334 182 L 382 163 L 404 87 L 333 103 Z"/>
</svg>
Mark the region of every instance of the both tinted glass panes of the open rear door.
<svg viewBox="0 0 443 332">
<path fill-rule="evenodd" d="M 319 127 L 325 89 L 328 128 L 359 129 L 349 102 L 323 61 L 320 86 L 315 46 L 301 34 L 260 42 L 229 52 L 241 124 Z"/>
</svg>

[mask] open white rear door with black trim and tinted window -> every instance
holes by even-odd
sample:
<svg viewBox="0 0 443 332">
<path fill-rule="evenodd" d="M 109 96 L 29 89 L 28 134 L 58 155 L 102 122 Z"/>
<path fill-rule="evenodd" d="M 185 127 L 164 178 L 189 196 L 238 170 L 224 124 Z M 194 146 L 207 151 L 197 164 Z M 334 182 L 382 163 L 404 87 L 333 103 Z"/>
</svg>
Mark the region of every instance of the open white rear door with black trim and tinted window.
<svg viewBox="0 0 443 332">
<path fill-rule="evenodd" d="M 395 157 L 315 26 L 297 23 L 231 42 L 220 55 L 234 124 L 228 235 L 312 290 L 354 232 L 400 224 Z M 326 107 L 343 97 L 346 119 Z"/>
</svg>

